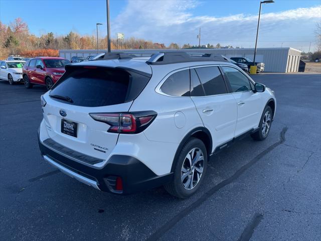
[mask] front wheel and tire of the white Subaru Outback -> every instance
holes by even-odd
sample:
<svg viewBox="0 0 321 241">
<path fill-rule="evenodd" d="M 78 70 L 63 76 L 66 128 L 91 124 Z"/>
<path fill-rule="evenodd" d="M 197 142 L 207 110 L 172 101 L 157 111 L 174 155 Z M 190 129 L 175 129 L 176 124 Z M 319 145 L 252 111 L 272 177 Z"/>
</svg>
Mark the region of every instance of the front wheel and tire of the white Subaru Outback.
<svg viewBox="0 0 321 241">
<path fill-rule="evenodd" d="M 253 134 L 251 134 L 251 137 L 255 141 L 263 141 L 270 133 L 271 130 L 271 124 L 272 124 L 272 109 L 270 106 L 265 106 L 261 119 L 259 124 L 259 130 Z"/>
</svg>

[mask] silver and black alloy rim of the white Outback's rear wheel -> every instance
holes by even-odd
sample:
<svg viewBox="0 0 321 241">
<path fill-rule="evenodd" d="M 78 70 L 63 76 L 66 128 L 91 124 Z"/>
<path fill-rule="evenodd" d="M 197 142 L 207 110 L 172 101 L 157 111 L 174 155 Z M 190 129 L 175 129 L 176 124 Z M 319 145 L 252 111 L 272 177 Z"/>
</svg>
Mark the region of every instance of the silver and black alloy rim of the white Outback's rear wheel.
<svg viewBox="0 0 321 241">
<path fill-rule="evenodd" d="M 185 189 L 193 189 L 201 180 L 204 169 L 204 154 L 201 149 L 193 148 L 185 157 L 181 181 Z"/>
</svg>

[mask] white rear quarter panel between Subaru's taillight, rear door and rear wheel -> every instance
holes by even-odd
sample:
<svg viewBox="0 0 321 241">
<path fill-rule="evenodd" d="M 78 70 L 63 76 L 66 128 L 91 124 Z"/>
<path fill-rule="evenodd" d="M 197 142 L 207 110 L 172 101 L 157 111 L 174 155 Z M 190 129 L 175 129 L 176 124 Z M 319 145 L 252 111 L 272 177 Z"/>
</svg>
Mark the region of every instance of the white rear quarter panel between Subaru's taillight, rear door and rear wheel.
<svg viewBox="0 0 321 241">
<path fill-rule="evenodd" d="M 170 97 L 155 91 L 158 83 L 167 76 L 169 75 L 164 73 L 164 68 L 153 69 L 150 81 L 130 107 L 130 111 L 157 112 L 151 125 L 141 133 L 144 138 L 137 135 L 137 140 L 142 145 L 133 151 L 140 152 L 137 155 L 138 160 L 157 175 L 171 172 L 174 156 L 181 141 L 194 128 L 203 127 L 190 97 Z M 134 136 L 136 135 L 120 135 L 117 146 L 126 142 L 134 143 Z"/>
</svg>

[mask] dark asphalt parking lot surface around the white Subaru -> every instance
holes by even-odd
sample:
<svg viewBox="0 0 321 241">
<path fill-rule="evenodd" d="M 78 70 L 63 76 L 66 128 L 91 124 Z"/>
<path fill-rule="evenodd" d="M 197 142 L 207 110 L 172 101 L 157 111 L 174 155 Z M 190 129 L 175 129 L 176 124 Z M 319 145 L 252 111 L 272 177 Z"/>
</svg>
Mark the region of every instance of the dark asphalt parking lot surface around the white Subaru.
<svg viewBox="0 0 321 241">
<path fill-rule="evenodd" d="M 162 187 L 99 192 L 40 156 L 45 88 L 0 81 L 0 240 L 321 240 L 321 75 L 259 74 L 275 90 L 269 137 L 214 156 L 187 200 Z"/>
</svg>

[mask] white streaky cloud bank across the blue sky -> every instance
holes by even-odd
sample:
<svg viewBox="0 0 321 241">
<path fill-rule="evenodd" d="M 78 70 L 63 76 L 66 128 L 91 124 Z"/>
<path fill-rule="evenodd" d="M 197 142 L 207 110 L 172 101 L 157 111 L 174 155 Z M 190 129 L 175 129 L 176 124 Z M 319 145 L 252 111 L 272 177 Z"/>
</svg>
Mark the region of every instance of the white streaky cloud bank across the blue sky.
<svg viewBox="0 0 321 241">
<path fill-rule="evenodd" d="M 198 28 L 202 44 L 220 42 L 253 47 L 257 15 L 238 14 L 225 17 L 195 16 L 196 1 L 128 1 L 126 8 L 112 23 L 113 34 L 170 44 L 197 44 Z M 321 19 L 321 7 L 299 8 L 261 15 L 259 47 L 300 48 L 314 41 L 314 22 Z M 293 42 L 297 41 L 297 42 Z M 302 41 L 302 42 L 301 42 Z"/>
</svg>

